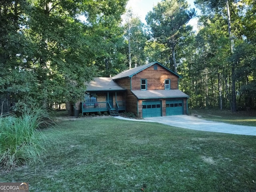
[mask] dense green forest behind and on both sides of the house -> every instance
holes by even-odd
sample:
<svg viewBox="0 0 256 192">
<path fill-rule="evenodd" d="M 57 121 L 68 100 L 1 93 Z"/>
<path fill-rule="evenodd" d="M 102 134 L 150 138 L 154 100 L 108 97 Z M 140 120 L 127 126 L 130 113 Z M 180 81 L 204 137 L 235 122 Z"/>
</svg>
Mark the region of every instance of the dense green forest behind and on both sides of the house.
<svg viewBox="0 0 256 192">
<path fill-rule="evenodd" d="M 190 108 L 256 107 L 254 0 L 196 0 L 198 16 L 162 0 L 147 24 L 126 3 L 0 0 L 0 100 L 76 102 L 93 77 L 158 61 L 183 77 Z"/>
</svg>

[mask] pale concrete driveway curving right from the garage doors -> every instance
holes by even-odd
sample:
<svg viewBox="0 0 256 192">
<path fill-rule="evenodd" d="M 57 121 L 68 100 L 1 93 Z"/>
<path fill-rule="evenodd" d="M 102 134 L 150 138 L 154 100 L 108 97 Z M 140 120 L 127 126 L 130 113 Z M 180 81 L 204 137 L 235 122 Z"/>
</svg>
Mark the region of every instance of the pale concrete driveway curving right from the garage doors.
<svg viewBox="0 0 256 192">
<path fill-rule="evenodd" d="M 117 117 L 117 118 L 129 120 L 128 118 L 122 118 L 122 117 Z M 199 131 L 256 136 L 256 127 L 208 121 L 208 120 L 203 120 L 203 119 L 200 119 L 194 116 L 188 116 L 188 115 L 148 117 L 148 118 L 144 118 L 144 120 L 142 121 L 158 122 L 158 123 L 162 123 L 170 126 L 199 130 Z"/>
</svg>

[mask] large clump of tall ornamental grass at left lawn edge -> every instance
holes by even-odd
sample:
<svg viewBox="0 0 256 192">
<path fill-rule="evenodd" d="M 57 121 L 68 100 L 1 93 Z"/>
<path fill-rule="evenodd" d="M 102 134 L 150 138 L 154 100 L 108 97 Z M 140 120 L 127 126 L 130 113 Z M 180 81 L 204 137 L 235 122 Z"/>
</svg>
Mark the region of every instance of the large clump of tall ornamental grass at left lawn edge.
<svg viewBox="0 0 256 192">
<path fill-rule="evenodd" d="M 50 142 L 40 128 L 53 123 L 47 110 L 35 105 L 0 116 L 0 170 L 37 162 Z"/>
</svg>

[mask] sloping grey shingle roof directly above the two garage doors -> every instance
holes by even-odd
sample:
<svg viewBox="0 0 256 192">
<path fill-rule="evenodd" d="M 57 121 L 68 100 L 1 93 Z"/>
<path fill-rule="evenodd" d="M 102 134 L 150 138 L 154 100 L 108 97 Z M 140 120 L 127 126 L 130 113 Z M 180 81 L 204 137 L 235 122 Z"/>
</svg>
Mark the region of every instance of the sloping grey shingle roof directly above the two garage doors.
<svg viewBox="0 0 256 192">
<path fill-rule="evenodd" d="M 189 98 L 181 90 L 132 90 L 138 99 Z"/>
</svg>

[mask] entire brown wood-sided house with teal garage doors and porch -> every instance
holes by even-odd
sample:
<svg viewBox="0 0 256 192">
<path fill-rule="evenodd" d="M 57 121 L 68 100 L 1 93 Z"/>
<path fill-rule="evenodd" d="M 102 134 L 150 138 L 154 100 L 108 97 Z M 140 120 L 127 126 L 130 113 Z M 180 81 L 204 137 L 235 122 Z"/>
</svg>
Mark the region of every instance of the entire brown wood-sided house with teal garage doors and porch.
<svg viewBox="0 0 256 192">
<path fill-rule="evenodd" d="M 85 100 L 76 107 L 81 113 L 109 111 L 113 115 L 125 110 L 140 118 L 187 114 L 189 96 L 178 89 L 179 78 L 158 62 L 112 78 L 95 78 L 87 86 Z"/>
</svg>

